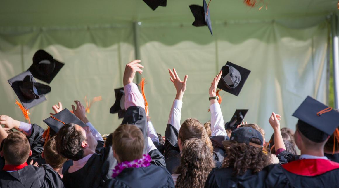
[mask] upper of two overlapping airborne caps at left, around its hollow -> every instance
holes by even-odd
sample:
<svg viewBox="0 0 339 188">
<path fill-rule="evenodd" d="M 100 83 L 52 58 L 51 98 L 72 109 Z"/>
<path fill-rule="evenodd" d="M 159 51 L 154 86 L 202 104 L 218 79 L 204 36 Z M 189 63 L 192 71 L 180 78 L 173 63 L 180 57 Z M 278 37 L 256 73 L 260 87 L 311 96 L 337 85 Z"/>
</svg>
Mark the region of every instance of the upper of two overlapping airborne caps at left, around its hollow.
<svg viewBox="0 0 339 188">
<path fill-rule="evenodd" d="M 44 50 L 38 50 L 38 51 L 36 52 L 36 54 L 37 54 L 37 53 L 40 53 L 40 54 L 46 53 L 46 55 L 48 55 L 48 56 L 50 56 L 51 58 L 53 58 L 52 55 L 50 55 L 49 53 L 47 53 L 47 52 L 44 51 Z M 43 56 L 43 55 L 41 55 L 41 56 Z M 44 81 L 45 83 L 50 84 L 51 81 L 54 79 L 54 77 L 58 74 L 58 72 L 60 71 L 60 69 L 65 65 L 64 63 L 61 63 L 61 62 L 59 62 L 59 61 L 57 61 L 57 60 L 55 60 L 55 59 L 53 59 L 53 60 L 54 60 L 54 62 L 55 62 L 55 67 L 54 67 L 54 70 L 53 70 L 53 72 L 52 72 L 51 74 L 46 75 L 46 74 L 41 74 L 41 73 L 39 73 L 39 72 L 36 70 L 36 68 L 35 68 L 35 66 L 37 66 L 37 65 L 34 64 L 34 63 L 31 65 L 31 67 L 29 67 L 28 70 L 31 71 L 33 77 L 35 77 L 35 78 L 37 78 L 37 79 L 39 79 L 39 80 L 41 80 L 41 81 Z"/>
</svg>

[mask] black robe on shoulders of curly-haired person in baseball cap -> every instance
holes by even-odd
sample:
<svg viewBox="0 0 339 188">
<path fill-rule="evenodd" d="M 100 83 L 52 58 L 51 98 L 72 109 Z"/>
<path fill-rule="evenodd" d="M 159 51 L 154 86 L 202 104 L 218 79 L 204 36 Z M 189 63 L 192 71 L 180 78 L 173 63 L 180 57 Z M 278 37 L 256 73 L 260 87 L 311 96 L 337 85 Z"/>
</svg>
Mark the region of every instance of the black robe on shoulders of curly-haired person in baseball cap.
<svg viewBox="0 0 339 188">
<path fill-rule="evenodd" d="M 205 188 L 218 187 L 263 187 L 264 174 L 253 173 L 246 170 L 243 175 L 232 175 L 233 168 L 213 168 L 205 182 Z"/>
</svg>

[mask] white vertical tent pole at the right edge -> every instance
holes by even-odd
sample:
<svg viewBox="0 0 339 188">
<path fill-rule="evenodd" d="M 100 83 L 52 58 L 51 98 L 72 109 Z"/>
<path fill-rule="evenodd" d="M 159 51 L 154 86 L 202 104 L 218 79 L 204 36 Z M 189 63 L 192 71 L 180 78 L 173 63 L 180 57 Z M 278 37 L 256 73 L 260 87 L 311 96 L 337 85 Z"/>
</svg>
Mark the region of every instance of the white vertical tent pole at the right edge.
<svg viewBox="0 0 339 188">
<path fill-rule="evenodd" d="M 333 81 L 334 81 L 334 107 L 339 108 L 339 41 L 338 41 L 338 17 L 335 13 L 332 14 L 331 20 L 332 34 L 332 56 L 333 56 Z"/>
</svg>

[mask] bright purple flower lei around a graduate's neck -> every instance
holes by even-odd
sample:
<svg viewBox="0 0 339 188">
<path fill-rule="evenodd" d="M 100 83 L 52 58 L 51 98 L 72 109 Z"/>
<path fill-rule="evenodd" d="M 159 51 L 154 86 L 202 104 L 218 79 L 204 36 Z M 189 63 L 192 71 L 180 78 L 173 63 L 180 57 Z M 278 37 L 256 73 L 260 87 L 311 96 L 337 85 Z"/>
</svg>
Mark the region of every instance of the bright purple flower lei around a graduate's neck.
<svg viewBox="0 0 339 188">
<path fill-rule="evenodd" d="M 152 161 L 151 156 L 143 155 L 142 158 L 136 159 L 134 161 L 124 161 L 122 163 L 118 163 L 117 166 L 113 169 L 112 178 L 117 177 L 120 172 L 125 168 L 139 168 L 139 167 L 147 167 L 150 165 Z"/>
</svg>

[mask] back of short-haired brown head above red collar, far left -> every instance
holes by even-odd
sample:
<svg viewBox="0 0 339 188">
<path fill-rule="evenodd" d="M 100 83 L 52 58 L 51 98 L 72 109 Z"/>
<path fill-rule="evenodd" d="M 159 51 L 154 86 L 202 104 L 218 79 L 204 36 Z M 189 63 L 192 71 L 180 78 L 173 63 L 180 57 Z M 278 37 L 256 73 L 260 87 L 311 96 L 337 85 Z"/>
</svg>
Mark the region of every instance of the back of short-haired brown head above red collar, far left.
<svg viewBox="0 0 339 188">
<path fill-rule="evenodd" d="M 20 132 L 14 132 L 7 136 L 3 142 L 3 156 L 11 165 L 20 165 L 27 161 L 31 146 L 26 136 Z"/>
</svg>

